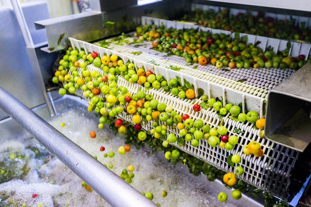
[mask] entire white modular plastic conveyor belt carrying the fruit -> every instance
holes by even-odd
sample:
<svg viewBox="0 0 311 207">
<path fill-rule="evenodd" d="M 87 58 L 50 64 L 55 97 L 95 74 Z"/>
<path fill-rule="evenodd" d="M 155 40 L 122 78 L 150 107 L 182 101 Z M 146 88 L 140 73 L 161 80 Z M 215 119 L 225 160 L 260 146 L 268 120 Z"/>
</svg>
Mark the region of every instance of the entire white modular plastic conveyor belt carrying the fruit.
<svg viewBox="0 0 311 207">
<path fill-rule="evenodd" d="M 160 25 L 161 22 L 165 22 L 166 26 L 173 24 L 176 28 L 181 27 L 180 25 L 182 24 L 172 23 L 172 21 L 168 20 L 142 17 L 142 22 L 144 24 L 150 23 L 151 21 L 158 25 Z M 189 26 L 184 24 L 183 27 L 192 27 L 192 25 Z M 249 39 L 252 40 L 252 38 L 253 37 L 250 37 Z M 263 39 L 263 37 L 260 36 L 256 36 L 256 38 Z M 126 43 L 123 45 L 114 44 L 113 41 L 111 41 L 108 48 L 104 48 L 99 46 L 100 43 L 91 44 L 74 38 L 69 38 L 69 40 L 73 48 L 76 48 L 79 51 L 83 49 L 86 54 L 94 51 L 97 52 L 100 57 L 106 54 L 114 54 L 121 57 L 123 62 L 133 62 L 136 70 L 144 67 L 145 71 L 152 70 L 156 75 L 163 75 L 165 80 L 179 76 L 182 81 L 183 79 L 186 79 L 193 84 L 196 93 L 198 92 L 198 88 L 203 88 L 205 94 L 208 95 L 208 98 L 222 98 L 224 105 L 226 103 L 238 105 L 242 102 L 242 112 L 255 110 L 261 118 L 264 117 L 265 103 L 267 101 L 266 97 L 269 90 L 294 73 L 294 70 L 281 70 L 280 68 L 228 68 L 229 71 L 224 71 L 217 69 L 212 65 L 198 65 L 197 69 L 193 69 L 194 65 L 183 64 L 185 61 L 182 57 L 166 56 L 165 53 L 151 50 L 146 44 L 141 44 L 137 47 Z M 109 40 L 107 41 L 109 42 Z M 255 38 L 253 38 L 253 41 L 255 41 Z M 269 41 L 270 40 L 266 40 L 266 43 Z M 286 43 L 287 41 L 285 42 L 285 45 Z M 278 44 L 277 48 L 281 48 L 283 47 L 282 45 L 284 45 L 283 41 L 280 40 L 278 41 Z M 263 47 L 266 47 L 266 45 L 263 45 Z M 140 52 L 140 54 L 135 55 L 137 52 Z M 83 60 L 80 61 L 82 62 Z M 171 70 L 169 69 L 170 65 L 182 69 L 178 71 Z M 96 68 L 93 64 L 87 65 L 87 69 L 90 71 L 97 70 L 102 72 L 100 68 Z M 78 68 L 78 72 L 80 72 L 80 70 L 81 69 Z M 240 83 L 237 81 L 240 79 L 246 79 L 246 81 Z M 136 93 L 142 88 L 142 86 L 137 83 L 129 83 L 122 76 L 118 76 L 117 85 L 128 88 L 128 92 L 131 94 Z M 193 120 L 202 119 L 205 124 L 209 124 L 211 127 L 217 127 L 220 124 L 217 111 L 214 109 L 209 108 L 207 110 L 201 110 L 200 113 L 192 110 L 193 104 L 200 103 L 202 101 L 201 99 L 182 100 L 171 93 L 165 92 L 163 88 L 159 90 L 149 89 L 148 93 L 151 93 L 159 102 L 171 106 L 179 115 L 187 113 Z M 90 100 L 90 98 L 83 96 L 83 91 L 81 89 L 77 89 L 76 94 L 84 99 Z M 102 96 L 102 94 L 100 96 Z M 229 115 L 227 114 L 223 117 L 224 126 L 228 129 L 228 135 L 236 135 L 239 137 L 239 143 L 233 150 L 228 151 L 220 147 L 211 147 L 205 139 L 199 141 L 200 144 L 198 147 L 193 147 L 190 142 L 186 142 L 185 145 L 181 147 L 178 146 L 177 143 L 174 145 L 226 172 L 232 172 L 234 170 L 234 168 L 226 162 L 228 155 L 239 154 L 241 157 L 240 165 L 244 166 L 244 173 L 243 175 L 238 176 L 238 178 L 255 187 L 273 193 L 284 200 L 290 199 L 290 196 L 292 195 L 289 195 L 288 189 L 291 183 L 292 169 L 299 156 L 299 152 L 276 144 L 275 142 L 260 138 L 260 130 L 253 128 L 254 124 L 234 121 L 228 116 Z M 119 117 L 132 122 L 131 117 L 127 116 L 125 112 L 119 114 Z M 150 131 L 153 128 L 149 122 L 143 123 L 142 127 L 146 131 Z M 238 128 L 244 133 L 234 133 L 234 128 Z M 179 130 L 177 128 L 168 127 L 168 133 L 174 133 L 178 136 Z M 262 157 L 245 155 L 243 153 L 243 146 L 251 141 L 256 141 L 261 144 L 264 151 Z"/>
</svg>

